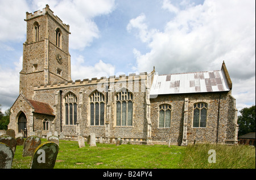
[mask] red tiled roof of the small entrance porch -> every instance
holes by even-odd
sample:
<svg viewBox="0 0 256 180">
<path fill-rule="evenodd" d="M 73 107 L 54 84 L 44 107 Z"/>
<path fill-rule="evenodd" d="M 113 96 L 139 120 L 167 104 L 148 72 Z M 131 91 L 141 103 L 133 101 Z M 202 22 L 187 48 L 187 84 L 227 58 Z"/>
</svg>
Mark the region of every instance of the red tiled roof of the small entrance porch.
<svg viewBox="0 0 256 180">
<path fill-rule="evenodd" d="M 55 116 L 55 114 L 53 113 L 53 109 L 51 108 L 51 106 L 49 106 L 49 104 L 38 102 L 38 101 L 33 101 L 30 99 L 27 99 L 27 100 L 34 107 L 34 110 L 35 110 L 34 112 L 39 113 L 39 114 L 47 114 L 47 115 Z"/>
</svg>

